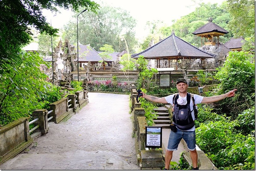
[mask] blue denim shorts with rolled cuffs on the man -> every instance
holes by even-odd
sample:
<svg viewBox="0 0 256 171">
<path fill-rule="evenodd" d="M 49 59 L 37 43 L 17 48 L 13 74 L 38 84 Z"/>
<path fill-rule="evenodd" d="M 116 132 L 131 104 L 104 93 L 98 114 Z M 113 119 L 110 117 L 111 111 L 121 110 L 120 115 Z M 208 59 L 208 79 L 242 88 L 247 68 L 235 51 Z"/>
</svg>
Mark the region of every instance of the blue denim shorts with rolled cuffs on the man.
<svg viewBox="0 0 256 171">
<path fill-rule="evenodd" d="M 187 148 L 191 151 L 196 149 L 196 132 L 195 131 L 182 131 L 177 129 L 177 132 L 170 132 L 168 147 L 167 150 L 175 151 L 178 148 L 178 145 L 181 139 L 187 144 Z"/>
</svg>

